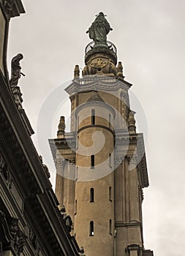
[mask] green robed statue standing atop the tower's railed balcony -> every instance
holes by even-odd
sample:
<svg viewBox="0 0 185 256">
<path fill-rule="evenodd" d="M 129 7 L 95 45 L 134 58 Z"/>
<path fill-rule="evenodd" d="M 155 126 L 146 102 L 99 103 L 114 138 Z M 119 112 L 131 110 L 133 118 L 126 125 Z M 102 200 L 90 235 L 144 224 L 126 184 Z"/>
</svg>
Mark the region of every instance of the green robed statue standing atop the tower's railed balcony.
<svg viewBox="0 0 185 256">
<path fill-rule="evenodd" d="M 103 12 L 99 12 L 99 15 L 96 16 L 97 18 L 95 18 L 86 33 L 88 33 L 89 37 L 94 40 L 95 45 L 106 45 L 107 34 L 113 29 L 110 28 L 110 24 L 107 22 Z"/>
</svg>

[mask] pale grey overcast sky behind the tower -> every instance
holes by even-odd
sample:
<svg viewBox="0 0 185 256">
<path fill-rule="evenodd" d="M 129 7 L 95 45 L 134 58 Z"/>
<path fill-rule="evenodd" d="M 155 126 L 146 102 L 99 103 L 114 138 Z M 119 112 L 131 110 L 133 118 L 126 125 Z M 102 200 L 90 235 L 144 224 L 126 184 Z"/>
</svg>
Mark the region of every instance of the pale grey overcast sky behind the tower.
<svg viewBox="0 0 185 256">
<path fill-rule="evenodd" d="M 8 67 L 13 56 L 23 53 L 26 77 L 19 86 L 39 154 L 50 166 L 48 138 L 56 138 L 59 116 L 69 118 L 64 88 L 75 64 L 84 67 L 90 42 L 86 30 L 97 13 L 105 12 L 113 28 L 108 40 L 116 45 L 125 80 L 133 84 L 130 91 L 140 102 L 131 98 L 137 131 L 145 134 L 150 181 L 144 189 L 145 246 L 154 255 L 184 255 L 185 1 L 23 0 L 23 5 L 26 14 L 10 24 Z"/>
</svg>

